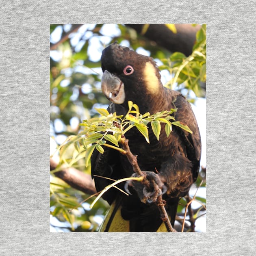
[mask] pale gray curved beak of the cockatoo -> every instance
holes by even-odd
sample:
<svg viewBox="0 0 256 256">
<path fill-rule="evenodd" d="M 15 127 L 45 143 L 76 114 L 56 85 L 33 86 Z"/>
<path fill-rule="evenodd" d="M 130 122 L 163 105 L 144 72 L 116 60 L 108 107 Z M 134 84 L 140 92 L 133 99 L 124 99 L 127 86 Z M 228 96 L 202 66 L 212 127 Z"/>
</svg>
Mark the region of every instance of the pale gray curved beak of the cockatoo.
<svg viewBox="0 0 256 256">
<path fill-rule="evenodd" d="M 108 100 L 116 104 L 124 103 L 124 83 L 107 70 L 104 71 L 101 79 L 101 89 Z"/>
</svg>

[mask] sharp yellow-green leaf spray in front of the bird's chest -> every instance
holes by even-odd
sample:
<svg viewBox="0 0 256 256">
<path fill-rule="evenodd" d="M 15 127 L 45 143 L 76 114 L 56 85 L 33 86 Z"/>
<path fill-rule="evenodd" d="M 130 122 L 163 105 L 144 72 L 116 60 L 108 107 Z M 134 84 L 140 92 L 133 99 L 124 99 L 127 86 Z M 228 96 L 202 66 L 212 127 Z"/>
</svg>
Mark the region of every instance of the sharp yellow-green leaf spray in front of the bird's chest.
<svg viewBox="0 0 256 256">
<path fill-rule="evenodd" d="M 161 123 L 165 123 L 167 137 L 169 136 L 169 131 L 172 130 L 172 125 L 191 132 L 187 125 L 182 124 L 180 121 L 175 121 L 175 118 L 171 116 L 177 109 L 161 111 L 152 115 L 150 115 L 149 112 L 141 115 L 137 104 L 129 101 L 128 106 L 129 111 L 125 117 L 116 115 L 116 113 L 108 113 L 104 108 L 96 108 L 96 111 L 102 116 L 84 120 L 82 124 L 80 124 L 84 127 L 84 130 L 76 136 L 68 137 L 67 141 L 59 147 L 60 164 L 65 163 L 68 166 L 73 166 L 78 160 L 85 158 L 85 167 L 88 167 L 94 149 L 98 150 L 101 154 L 104 153 L 102 146 L 123 152 L 124 150 L 119 148 L 119 141 L 122 135 L 125 135 L 126 132 L 133 127 L 137 128 L 145 137 L 145 140 L 150 143 L 147 126 L 149 123 L 151 123 L 152 130 L 157 139 L 159 139 L 161 132 Z M 72 144 L 75 144 L 75 151 L 73 156 L 68 159 L 64 157 L 65 151 L 68 149 L 69 145 Z"/>
</svg>

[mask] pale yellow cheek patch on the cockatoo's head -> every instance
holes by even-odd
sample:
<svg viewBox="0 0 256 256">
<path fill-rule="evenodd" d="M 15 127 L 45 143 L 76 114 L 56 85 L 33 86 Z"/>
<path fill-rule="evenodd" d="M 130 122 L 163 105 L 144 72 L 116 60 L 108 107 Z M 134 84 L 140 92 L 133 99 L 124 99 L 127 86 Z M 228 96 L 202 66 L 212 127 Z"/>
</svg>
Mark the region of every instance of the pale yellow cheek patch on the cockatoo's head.
<svg viewBox="0 0 256 256">
<path fill-rule="evenodd" d="M 156 93 L 159 88 L 159 81 L 158 77 L 156 76 L 156 69 L 150 61 L 146 62 L 145 64 L 143 77 L 148 92 L 152 94 Z"/>
</svg>

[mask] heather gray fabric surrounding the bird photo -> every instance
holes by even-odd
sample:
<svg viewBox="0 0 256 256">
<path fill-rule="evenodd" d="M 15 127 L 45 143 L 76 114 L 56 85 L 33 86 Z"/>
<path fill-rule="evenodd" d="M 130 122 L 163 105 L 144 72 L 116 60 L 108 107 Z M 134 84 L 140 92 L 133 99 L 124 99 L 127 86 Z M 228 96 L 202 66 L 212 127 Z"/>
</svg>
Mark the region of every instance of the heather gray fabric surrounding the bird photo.
<svg viewBox="0 0 256 256">
<path fill-rule="evenodd" d="M 255 1 L 3 2 L 1 255 L 254 255 L 255 13 Z M 49 25 L 97 22 L 207 24 L 206 233 L 49 232 Z"/>
</svg>

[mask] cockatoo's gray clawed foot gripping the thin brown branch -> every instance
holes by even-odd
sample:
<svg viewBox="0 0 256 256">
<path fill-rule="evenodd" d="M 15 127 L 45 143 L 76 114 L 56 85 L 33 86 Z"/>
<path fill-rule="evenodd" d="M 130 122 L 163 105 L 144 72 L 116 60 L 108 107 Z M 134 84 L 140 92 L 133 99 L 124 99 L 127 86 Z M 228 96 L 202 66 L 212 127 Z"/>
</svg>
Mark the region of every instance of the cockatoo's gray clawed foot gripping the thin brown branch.
<svg viewBox="0 0 256 256">
<path fill-rule="evenodd" d="M 167 187 L 161 181 L 158 174 L 153 171 L 142 171 L 144 175 L 143 182 L 137 182 L 129 180 L 124 185 L 124 189 L 127 193 L 130 193 L 129 186 L 132 187 L 138 194 L 140 200 L 144 203 L 149 204 L 156 202 L 159 195 L 163 195 L 167 191 Z M 139 177 L 136 173 L 132 174 L 131 177 Z"/>
</svg>

